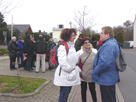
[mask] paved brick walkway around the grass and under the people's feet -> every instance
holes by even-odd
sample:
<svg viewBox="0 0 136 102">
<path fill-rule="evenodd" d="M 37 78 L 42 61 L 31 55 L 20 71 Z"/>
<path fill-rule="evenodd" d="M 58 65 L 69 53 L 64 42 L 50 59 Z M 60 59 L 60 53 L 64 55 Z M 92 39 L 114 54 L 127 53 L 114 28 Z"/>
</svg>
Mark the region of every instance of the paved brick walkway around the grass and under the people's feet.
<svg viewBox="0 0 136 102">
<path fill-rule="evenodd" d="M 46 63 L 46 68 L 47 67 L 48 64 Z M 55 86 L 52 82 L 54 78 L 54 72 L 55 69 L 52 71 L 46 71 L 45 73 L 42 73 L 41 70 L 40 73 L 28 73 L 23 70 L 11 71 L 9 68 L 8 57 L 0 58 L 0 75 L 17 76 L 19 74 L 20 76 L 24 77 L 46 78 L 47 80 L 51 80 L 51 82 L 47 84 L 38 94 L 25 98 L 0 96 L 0 102 L 57 102 L 59 97 L 59 87 Z M 80 92 L 80 85 L 72 87 L 68 102 L 82 102 Z M 99 85 L 96 85 L 96 93 L 98 102 L 101 102 Z M 87 102 L 92 102 L 89 91 L 87 91 Z"/>
</svg>

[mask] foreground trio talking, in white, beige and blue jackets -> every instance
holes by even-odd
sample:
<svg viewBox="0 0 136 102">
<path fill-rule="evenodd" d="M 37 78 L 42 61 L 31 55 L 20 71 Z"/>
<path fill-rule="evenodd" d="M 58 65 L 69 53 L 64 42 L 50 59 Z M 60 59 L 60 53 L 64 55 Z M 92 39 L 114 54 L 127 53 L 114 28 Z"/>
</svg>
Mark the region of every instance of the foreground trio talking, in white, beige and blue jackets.
<svg viewBox="0 0 136 102">
<path fill-rule="evenodd" d="M 53 83 L 60 86 L 58 102 L 67 102 L 72 86 L 79 84 L 82 102 L 86 102 L 87 84 L 93 102 L 97 102 L 95 84 L 100 85 L 102 102 L 116 102 L 115 84 L 119 72 L 114 60 L 119 54 L 119 47 L 115 43 L 113 29 L 109 26 L 102 28 L 97 49 L 92 47 L 96 44 L 95 38 L 91 40 L 80 34 L 74 43 L 76 35 L 76 30 L 72 28 L 66 28 L 60 34 L 60 39 L 67 43 L 69 51 L 67 54 L 65 46 L 60 45 L 57 52 L 59 65 Z"/>
</svg>

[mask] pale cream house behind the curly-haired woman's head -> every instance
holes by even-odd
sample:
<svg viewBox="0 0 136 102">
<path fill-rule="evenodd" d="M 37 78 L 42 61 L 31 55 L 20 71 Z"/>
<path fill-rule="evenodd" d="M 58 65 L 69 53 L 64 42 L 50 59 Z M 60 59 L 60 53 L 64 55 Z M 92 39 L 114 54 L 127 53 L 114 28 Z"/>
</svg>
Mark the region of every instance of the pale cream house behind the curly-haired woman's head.
<svg viewBox="0 0 136 102">
<path fill-rule="evenodd" d="M 52 38 L 54 40 L 54 42 L 57 42 L 60 40 L 60 33 L 61 31 L 64 29 L 63 25 L 59 25 L 58 28 L 53 28 L 53 34 L 52 34 Z M 77 36 L 76 39 L 78 38 L 79 34 L 81 33 L 81 31 L 77 30 Z M 76 41 L 75 39 L 75 41 Z"/>
</svg>

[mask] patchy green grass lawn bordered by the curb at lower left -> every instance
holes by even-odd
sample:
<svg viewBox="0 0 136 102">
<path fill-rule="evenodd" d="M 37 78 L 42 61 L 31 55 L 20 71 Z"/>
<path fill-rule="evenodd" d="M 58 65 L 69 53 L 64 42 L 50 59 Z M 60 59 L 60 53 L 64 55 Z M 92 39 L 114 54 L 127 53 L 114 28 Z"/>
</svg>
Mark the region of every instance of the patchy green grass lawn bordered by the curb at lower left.
<svg viewBox="0 0 136 102">
<path fill-rule="evenodd" d="M 34 92 L 47 80 L 30 77 L 0 76 L 0 93 L 27 94 Z"/>
</svg>

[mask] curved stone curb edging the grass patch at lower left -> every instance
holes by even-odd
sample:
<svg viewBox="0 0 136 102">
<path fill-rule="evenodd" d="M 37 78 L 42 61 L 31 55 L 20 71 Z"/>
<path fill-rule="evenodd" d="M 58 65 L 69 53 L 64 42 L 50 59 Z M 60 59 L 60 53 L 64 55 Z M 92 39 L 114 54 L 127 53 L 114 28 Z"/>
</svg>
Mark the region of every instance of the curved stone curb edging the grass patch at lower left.
<svg viewBox="0 0 136 102">
<path fill-rule="evenodd" d="M 41 86 L 39 86 L 34 92 L 32 93 L 28 93 L 28 94 L 8 94 L 8 93 L 0 93 L 1 96 L 8 96 L 8 97 L 17 97 L 17 98 L 21 98 L 21 97 L 28 97 L 28 96 L 32 96 L 35 95 L 36 93 L 38 93 L 42 88 L 44 88 L 48 83 L 50 82 L 50 80 L 47 80 L 44 84 L 42 84 Z"/>
</svg>

